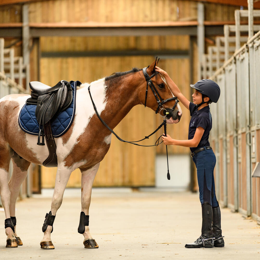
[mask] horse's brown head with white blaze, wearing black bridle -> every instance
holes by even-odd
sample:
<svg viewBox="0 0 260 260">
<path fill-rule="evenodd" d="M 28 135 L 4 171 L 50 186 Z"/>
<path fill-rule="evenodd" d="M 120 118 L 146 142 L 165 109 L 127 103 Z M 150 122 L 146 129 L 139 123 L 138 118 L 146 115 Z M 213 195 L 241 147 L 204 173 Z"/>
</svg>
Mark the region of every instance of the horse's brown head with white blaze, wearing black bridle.
<svg viewBox="0 0 260 260">
<path fill-rule="evenodd" d="M 182 111 L 177 97 L 174 97 L 164 76 L 155 72 L 154 68 L 159 59 L 143 69 L 144 83 L 139 92 L 139 99 L 145 106 L 152 108 L 155 113 L 167 117 L 167 123 L 178 123 Z"/>
</svg>

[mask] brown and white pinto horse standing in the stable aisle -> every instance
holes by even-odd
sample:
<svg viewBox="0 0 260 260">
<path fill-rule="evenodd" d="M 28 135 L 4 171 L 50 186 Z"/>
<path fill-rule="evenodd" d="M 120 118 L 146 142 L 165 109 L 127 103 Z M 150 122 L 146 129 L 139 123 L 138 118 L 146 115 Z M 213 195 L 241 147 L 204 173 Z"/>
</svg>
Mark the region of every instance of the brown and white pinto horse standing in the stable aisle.
<svg viewBox="0 0 260 260">
<path fill-rule="evenodd" d="M 154 73 L 156 60 L 147 68 L 148 75 Z M 173 97 L 167 84 L 160 74 L 152 79 L 162 99 Z M 88 83 L 83 83 L 77 90 L 76 113 L 73 124 L 61 137 L 56 138 L 58 169 L 54 194 L 51 202 L 51 215 L 55 216 L 61 206 L 63 193 L 70 174 L 79 168 L 81 178 L 81 211 L 88 215 L 92 184 L 99 168 L 100 161 L 107 153 L 111 132 L 102 124 L 95 114 Z M 132 69 L 128 72 L 115 73 L 106 78 L 90 83 L 92 98 L 101 118 L 114 128 L 126 116 L 132 107 L 145 103 L 146 80 L 142 70 Z M 42 165 L 48 157 L 47 146 L 37 145 L 37 136 L 23 132 L 18 125 L 18 116 L 29 95 L 15 94 L 0 100 L 0 187 L 1 200 L 5 218 L 15 217 L 15 203 L 20 186 L 27 176 L 30 163 Z M 172 108 L 176 100 L 164 103 L 164 108 Z M 146 106 L 156 111 L 157 101 L 148 88 Z M 172 117 L 167 123 L 177 123 L 182 112 L 179 104 L 175 107 Z M 9 163 L 12 160 L 14 170 L 8 183 Z M 14 222 L 14 221 L 13 221 Z M 86 222 L 87 223 L 87 222 Z M 89 233 L 88 224 L 83 225 L 84 245 L 97 248 L 98 245 Z M 84 227 L 85 226 L 85 227 Z M 16 226 L 15 226 L 16 228 Z M 52 226 L 48 225 L 41 241 L 41 248 L 54 249 L 51 243 Z M 12 228 L 5 229 L 7 247 L 22 244 Z"/>
</svg>

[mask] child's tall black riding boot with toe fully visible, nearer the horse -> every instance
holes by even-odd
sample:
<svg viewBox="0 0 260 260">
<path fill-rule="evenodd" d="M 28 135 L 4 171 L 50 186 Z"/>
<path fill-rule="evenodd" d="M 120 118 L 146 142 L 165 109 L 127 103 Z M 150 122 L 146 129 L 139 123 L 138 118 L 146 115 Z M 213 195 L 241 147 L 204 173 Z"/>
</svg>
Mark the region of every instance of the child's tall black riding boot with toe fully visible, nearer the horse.
<svg viewBox="0 0 260 260">
<path fill-rule="evenodd" d="M 214 240 L 212 235 L 212 207 L 208 202 L 203 202 L 202 206 L 202 228 L 201 236 L 191 244 L 186 244 L 186 248 L 213 248 Z"/>
</svg>

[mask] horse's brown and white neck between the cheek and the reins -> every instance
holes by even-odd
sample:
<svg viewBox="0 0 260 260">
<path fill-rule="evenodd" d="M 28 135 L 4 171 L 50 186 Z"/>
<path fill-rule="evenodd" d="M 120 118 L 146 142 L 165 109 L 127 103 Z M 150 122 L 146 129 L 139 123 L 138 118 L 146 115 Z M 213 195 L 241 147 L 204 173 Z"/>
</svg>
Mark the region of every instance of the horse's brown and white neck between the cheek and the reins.
<svg viewBox="0 0 260 260">
<path fill-rule="evenodd" d="M 97 111 L 110 128 L 116 127 L 131 108 L 139 104 L 137 87 L 132 84 L 130 77 L 123 77 L 113 84 L 106 81 L 105 85 L 104 79 L 90 83 L 90 92 Z M 87 86 L 84 87 L 84 92 L 89 95 Z"/>
</svg>

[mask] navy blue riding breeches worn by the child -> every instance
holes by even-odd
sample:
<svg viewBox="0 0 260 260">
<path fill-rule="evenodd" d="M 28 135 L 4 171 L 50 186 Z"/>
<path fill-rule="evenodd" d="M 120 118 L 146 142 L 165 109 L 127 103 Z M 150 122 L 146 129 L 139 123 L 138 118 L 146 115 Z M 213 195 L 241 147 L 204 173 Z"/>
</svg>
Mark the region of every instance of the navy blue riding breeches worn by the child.
<svg viewBox="0 0 260 260">
<path fill-rule="evenodd" d="M 199 200 L 201 204 L 208 202 L 212 207 L 217 207 L 218 202 L 215 194 L 214 167 L 216 156 L 211 149 L 198 152 L 192 157 L 197 167 L 199 184 Z"/>
</svg>

